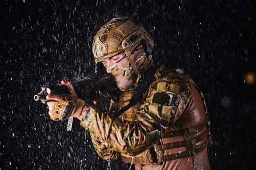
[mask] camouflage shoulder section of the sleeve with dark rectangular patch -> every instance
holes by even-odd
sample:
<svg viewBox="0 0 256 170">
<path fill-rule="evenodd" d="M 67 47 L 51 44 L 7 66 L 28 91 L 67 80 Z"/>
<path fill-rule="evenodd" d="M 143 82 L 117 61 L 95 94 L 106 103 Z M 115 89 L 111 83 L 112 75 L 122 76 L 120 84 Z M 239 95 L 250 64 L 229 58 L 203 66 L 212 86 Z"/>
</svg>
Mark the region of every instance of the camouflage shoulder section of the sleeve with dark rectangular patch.
<svg viewBox="0 0 256 170">
<path fill-rule="evenodd" d="M 183 74 L 169 72 L 151 84 L 144 111 L 152 117 L 173 124 L 190 99 L 189 79 Z"/>
</svg>

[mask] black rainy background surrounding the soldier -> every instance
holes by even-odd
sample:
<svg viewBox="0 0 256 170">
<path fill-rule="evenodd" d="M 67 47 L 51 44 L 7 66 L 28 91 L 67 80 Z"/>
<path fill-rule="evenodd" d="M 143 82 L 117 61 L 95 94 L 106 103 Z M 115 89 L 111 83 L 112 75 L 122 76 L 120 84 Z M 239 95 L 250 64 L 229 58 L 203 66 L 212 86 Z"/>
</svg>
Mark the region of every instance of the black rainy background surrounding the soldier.
<svg viewBox="0 0 256 170">
<path fill-rule="evenodd" d="M 33 96 L 45 82 L 95 72 L 94 34 L 112 17 L 134 17 L 155 40 L 154 60 L 184 68 L 203 91 L 213 170 L 247 170 L 256 152 L 254 0 L 1 0 L 0 169 L 129 169 L 94 152 L 88 133 L 66 132 Z M 249 168 L 252 167 L 252 168 Z"/>
</svg>

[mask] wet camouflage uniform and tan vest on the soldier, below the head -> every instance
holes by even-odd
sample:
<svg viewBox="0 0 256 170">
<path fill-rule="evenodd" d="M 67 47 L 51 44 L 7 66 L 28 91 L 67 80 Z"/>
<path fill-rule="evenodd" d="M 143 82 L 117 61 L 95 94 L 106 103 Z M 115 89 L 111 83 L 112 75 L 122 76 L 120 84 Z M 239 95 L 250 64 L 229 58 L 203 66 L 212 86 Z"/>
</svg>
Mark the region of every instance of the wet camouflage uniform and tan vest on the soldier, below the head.
<svg viewBox="0 0 256 170">
<path fill-rule="evenodd" d="M 108 113 L 89 107 L 80 125 L 90 132 L 98 155 L 135 163 L 136 169 L 210 170 L 211 141 L 203 96 L 188 75 L 158 69 L 143 99 L 112 117 L 133 91 L 122 92 Z"/>
</svg>

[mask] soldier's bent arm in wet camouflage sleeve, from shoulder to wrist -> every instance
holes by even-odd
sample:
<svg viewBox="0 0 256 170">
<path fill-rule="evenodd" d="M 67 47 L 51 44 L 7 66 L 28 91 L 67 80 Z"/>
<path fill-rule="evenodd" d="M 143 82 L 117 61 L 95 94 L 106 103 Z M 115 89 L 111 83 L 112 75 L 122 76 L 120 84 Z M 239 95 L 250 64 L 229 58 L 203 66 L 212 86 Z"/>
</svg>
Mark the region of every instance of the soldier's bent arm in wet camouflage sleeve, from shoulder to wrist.
<svg viewBox="0 0 256 170">
<path fill-rule="evenodd" d="M 91 133 L 98 153 L 109 150 L 136 155 L 164 135 L 191 99 L 188 84 L 168 79 L 171 78 L 158 80 L 151 85 L 145 103 L 133 121 L 112 118 L 91 107 L 88 109 L 80 124 Z M 102 158 L 109 159 L 104 156 Z"/>
</svg>

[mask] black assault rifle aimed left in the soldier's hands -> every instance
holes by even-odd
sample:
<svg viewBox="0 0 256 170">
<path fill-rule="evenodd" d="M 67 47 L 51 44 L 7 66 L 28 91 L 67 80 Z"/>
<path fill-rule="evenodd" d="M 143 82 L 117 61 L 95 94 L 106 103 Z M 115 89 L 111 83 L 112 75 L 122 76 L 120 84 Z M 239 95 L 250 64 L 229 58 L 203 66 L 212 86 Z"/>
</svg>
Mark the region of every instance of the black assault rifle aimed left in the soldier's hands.
<svg viewBox="0 0 256 170">
<path fill-rule="evenodd" d="M 118 89 L 115 80 L 112 76 L 104 77 L 101 79 L 96 78 L 95 75 L 87 75 L 87 77 L 71 82 L 74 86 L 76 94 L 80 99 L 83 99 L 87 104 L 93 106 L 93 99 L 96 97 L 101 98 L 102 110 L 107 111 L 110 104 L 110 99 L 118 100 Z M 65 85 L 52 85 L 46 83 L 41 86 L 41 91 L 34 96 L 35 101 L 41 101 L 42 103 L 48 102 L 46 95 L 51 94 L 67 94 L 68 90 Z M 67 131 L 79 131 L 80 120 L 74 117 L 70 117 L 67 123 Z"/>
</svg>

